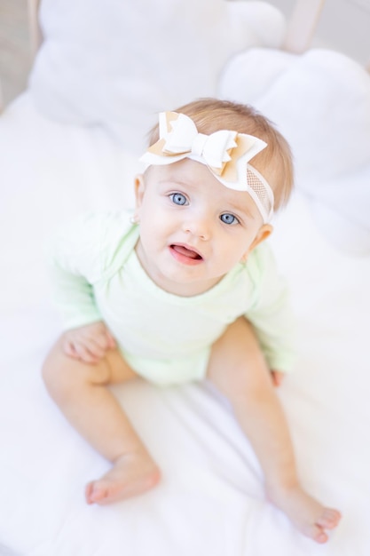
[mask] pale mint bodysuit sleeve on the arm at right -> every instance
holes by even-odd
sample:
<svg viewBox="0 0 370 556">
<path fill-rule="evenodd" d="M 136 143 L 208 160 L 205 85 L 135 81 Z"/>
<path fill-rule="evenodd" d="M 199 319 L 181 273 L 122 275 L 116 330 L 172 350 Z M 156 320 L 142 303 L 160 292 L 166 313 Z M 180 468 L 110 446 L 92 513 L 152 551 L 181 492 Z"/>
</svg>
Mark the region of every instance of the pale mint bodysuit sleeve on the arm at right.
<svg viewBox="0 0 370 556">
<path fill-rule="evenodd" d="M 295 362 L 295 327 L 287 281 L 279 274 L 267 243 L 252 255 L 249 276 L 255 293 L 245 317 L 256 330 L 269 368 L 288 372 Z"/>
</svg>

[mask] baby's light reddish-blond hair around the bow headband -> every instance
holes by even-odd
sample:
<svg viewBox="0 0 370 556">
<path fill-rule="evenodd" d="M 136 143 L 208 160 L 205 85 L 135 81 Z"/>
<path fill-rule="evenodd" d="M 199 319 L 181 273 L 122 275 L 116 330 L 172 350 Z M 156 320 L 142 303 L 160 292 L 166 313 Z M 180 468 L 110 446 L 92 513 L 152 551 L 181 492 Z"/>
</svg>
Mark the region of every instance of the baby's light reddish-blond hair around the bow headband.
<svg viewBox="0 0 370 556">
<path fill-rule="evenodd" d="M 200 133 L 209 135 L 218 130 L 231 130 L 263 139 L 267 147 L 250 163 L 272 187 L 274 210 L 287 203 L 294 182 L 292 153 L 287 140 L 268 118 L 254 107 L 218 99 L 197 99 L 173 111 L 192 118 Z M 156 124 L 149 132 L 149 145 L 158 139 L 159 126 Z"/>
</svg>

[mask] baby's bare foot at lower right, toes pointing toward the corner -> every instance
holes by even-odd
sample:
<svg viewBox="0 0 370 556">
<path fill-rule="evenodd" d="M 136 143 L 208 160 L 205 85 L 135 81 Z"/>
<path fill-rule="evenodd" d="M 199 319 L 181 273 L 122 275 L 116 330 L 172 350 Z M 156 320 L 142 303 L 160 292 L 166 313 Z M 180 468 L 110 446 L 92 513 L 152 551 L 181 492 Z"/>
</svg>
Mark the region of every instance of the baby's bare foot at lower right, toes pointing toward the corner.
<svg viewBox="0 0 370 556">
<path fill-rule="evenodd" d="M 334 529 L 342 517 L 340 512 L 323 506 L 300 486 L 279 492 L 276 489 L 272 492 L 271 489 L 268 496 L 272 504 L 286 513 L 303 535 L 320 544 L 328 540 L 326 530 Z"/>
</svg>

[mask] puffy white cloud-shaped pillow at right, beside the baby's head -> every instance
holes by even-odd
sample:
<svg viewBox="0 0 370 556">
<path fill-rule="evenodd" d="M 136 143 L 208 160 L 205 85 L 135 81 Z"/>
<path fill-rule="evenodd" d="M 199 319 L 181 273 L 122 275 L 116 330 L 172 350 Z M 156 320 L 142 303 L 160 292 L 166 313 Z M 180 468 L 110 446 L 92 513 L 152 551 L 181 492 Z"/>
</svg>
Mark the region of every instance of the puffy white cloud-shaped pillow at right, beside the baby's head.
<svg viewBox="0 0 370 556">
<path fill-rule="evenodd" d="M 252 77 L 253 76 L 253 77 Z M 296 187 L 327 239 L 370 255 L 370 75 L 339 52 L 250 49 L 232 58 L 221 97 L 248 102 L 293 148 Z"/>
</svg>

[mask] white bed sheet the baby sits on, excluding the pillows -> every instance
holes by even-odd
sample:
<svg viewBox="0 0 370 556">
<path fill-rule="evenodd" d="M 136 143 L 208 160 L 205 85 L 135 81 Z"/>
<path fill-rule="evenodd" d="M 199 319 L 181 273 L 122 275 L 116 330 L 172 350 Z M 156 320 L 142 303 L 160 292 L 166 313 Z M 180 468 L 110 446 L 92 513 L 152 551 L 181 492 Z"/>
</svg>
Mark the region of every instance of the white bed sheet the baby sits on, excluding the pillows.
<svg viewBox="0 0 370 556">
<path fill-rule="evenodd" d="M 163 480 L 145 496 L 88 506 L 84 484 L 108 464 L 43 388 L 40 367 L 59 333 L 43 243 L 81 210 L 130 204 L 138 165 L 98 128 L 44 119 L 26 93 L 0 120 L 0 169 L 1 556 L 368 556 L 369 258 L 335 250 L 302 194 L 277 221 L 299 338 L 279 395 L 303 482 L 343 513 L 328 544 L 268 504 L 248 440 L 208 384 L 114 389 Z"/>
</svg>

